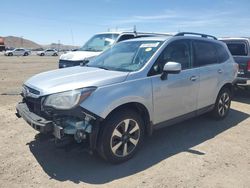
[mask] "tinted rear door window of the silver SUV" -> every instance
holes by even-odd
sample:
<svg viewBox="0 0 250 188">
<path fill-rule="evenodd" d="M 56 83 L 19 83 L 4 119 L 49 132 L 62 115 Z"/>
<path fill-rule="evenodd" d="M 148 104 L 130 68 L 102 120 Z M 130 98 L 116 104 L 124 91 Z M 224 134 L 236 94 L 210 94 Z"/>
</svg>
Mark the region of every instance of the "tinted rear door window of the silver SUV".
<svg viewBox="0 0 250 188">
<path fill-rule="evenodd" d="M 218 63 L 215 44 L 204 41 L 195 41 L 193 45 L 195 67 Z"/>
</svg>

